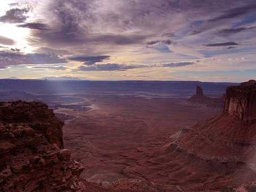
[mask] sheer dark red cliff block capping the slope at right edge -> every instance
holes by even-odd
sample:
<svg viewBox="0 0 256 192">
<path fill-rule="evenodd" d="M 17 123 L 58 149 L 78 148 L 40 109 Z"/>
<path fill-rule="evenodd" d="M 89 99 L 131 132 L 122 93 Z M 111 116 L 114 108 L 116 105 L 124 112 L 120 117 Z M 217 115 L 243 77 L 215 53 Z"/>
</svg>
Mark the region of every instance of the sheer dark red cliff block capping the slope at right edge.
<svg viewBox="0 0 256 192">
<path fill-rule="evenodd" d="M 247 122 L 256 120 L 256 81 L 250 80 L 240 86 L 227 88 L 224 113 Z"/>
</svg>

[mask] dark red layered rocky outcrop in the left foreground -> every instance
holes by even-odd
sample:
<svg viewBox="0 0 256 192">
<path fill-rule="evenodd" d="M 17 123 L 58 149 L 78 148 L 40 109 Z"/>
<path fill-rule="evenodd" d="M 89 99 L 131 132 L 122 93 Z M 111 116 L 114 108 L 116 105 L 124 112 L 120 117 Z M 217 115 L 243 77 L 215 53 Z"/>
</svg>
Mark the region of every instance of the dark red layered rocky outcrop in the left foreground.
<svg viewBox="0 0 256 192">
<path fill-rule="evenodd" d="M 83 167 L 63 149 L 62 126 L 45 104 L 0 103 L 0 191 L 83 189 Z"/>
</svg>

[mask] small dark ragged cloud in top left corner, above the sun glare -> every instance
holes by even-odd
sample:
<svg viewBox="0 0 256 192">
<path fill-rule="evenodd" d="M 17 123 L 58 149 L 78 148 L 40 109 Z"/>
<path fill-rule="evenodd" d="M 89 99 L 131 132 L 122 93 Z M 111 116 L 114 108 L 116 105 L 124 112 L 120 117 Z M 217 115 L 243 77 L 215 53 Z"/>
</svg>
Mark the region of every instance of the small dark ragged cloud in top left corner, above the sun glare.
<svg viewBox="0 0 256 192">
<path fill-rule="evenodd" d="M 28 16 L 25 14 L 28 12 L 26 8 L 12 8 L 6 11 L 6 14 L 0 17 L 0 22 L 3 23 L 23 23 Z"/>
</svg>

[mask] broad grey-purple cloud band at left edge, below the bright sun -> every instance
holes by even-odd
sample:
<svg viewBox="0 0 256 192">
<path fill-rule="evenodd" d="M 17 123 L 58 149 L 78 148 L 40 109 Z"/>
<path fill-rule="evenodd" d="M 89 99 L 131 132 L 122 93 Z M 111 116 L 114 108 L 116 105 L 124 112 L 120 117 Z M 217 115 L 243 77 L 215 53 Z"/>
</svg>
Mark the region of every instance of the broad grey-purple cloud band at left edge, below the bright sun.
<svg viewBox="0 0 256 192">
<path fill-rule="evenodd" d="M 20 64 L 54 64 L 67 63 L 59 56 L 51 54 L 21 54 L 18 52 L 0 51 L 0 67 L 14 66 Z"/>
</svg>

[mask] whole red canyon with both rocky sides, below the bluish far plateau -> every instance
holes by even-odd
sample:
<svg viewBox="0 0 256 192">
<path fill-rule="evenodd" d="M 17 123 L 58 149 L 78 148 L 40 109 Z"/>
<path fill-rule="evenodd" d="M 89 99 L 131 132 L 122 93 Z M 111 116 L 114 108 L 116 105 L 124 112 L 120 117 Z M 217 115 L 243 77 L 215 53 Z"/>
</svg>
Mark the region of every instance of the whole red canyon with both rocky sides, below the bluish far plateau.
<svg viewBox="0 0 256 192">
<path fill-rule="evenodd" d="M 1 102 L 0 189 L 253 191 L 255 95 L 250 80 L 229 86 L 214 110 L 130 95 L 69 95 L 53 109 Z"/>
</svg>

